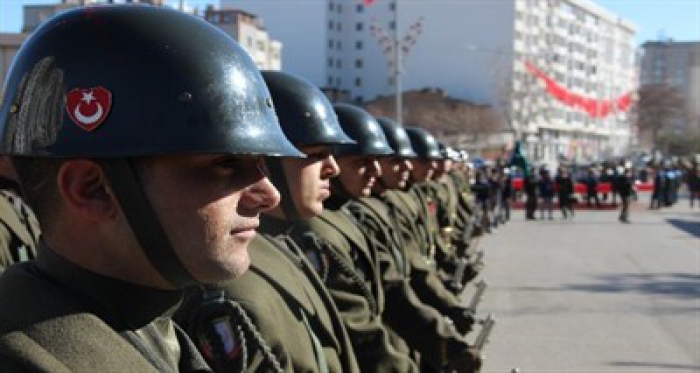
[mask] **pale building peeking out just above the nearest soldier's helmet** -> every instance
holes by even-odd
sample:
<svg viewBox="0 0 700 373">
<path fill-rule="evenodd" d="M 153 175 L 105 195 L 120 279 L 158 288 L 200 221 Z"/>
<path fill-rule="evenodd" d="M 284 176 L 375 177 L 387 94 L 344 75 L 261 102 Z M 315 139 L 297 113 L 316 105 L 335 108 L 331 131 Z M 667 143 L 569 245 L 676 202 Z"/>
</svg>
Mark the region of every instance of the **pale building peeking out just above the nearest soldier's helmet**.
<svg viewBox="0 0 700 373">
<path fill-rule="evenodd" d="M 215 10 L 210 5 L 204 19 L 237 40 L 260 69 L 281 69 L 282 43 L 270 38 L 259 17 L 238 9 Z"/>
</svg>

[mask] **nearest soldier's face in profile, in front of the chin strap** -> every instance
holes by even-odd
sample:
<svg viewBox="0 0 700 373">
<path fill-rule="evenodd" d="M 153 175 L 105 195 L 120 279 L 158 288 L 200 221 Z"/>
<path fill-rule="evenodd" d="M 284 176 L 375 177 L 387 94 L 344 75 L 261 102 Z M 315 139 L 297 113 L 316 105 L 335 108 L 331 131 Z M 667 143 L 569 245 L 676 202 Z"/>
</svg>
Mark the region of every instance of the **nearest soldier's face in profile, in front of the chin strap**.
<svg viewBox="0 0 700 373">
<path fill-rule="evenodd" d="M 258 217 L 279 203 L 262 159 L 183 155 L 146 162 L 144 189 L 190 274 L 214 283 L 245 272 Z"/>
</svg>

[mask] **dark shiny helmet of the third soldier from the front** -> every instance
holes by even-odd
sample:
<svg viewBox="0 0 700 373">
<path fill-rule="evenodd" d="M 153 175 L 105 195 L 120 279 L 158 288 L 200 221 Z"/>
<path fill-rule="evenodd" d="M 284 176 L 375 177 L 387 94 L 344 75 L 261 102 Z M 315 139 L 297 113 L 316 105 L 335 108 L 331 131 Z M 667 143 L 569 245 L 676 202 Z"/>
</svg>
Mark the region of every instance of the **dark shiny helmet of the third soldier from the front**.
<svg viewBox="0 0 700 373">
<path fill-rule="evenodd" d="M 386 136 L 377 120 L 360 107 L 349 104 L 333 105 L 340 126 L 357 143 L 336 147 L 336 155 L 391 155 Z"/>
</svg>

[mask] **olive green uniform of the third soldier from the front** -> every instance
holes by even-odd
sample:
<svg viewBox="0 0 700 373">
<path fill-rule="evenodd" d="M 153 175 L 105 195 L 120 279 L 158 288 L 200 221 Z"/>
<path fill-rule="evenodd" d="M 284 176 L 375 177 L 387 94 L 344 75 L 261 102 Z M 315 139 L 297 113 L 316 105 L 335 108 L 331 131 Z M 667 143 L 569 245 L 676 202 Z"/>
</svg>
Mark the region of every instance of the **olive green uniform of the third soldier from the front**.
<svg viewBox="0 0 700 373">
<path fill-rule="evenodd" d="M 363 372 L 417 372 L 410 350 L 392 341 L 391 332 L 382 321 L 384 290 L 379 260 L 369 250 L 356 222 L 341 211 L 326 209 L 308 221 L 313 234 L 303 248 L 316 252 L 310 256 L 327 263 L 324 282 L 338 306 Z M 312 241 L 312 242 L 308 242 Z M 394 345 L 392 344 L 398 344 Z"/>
</svg>

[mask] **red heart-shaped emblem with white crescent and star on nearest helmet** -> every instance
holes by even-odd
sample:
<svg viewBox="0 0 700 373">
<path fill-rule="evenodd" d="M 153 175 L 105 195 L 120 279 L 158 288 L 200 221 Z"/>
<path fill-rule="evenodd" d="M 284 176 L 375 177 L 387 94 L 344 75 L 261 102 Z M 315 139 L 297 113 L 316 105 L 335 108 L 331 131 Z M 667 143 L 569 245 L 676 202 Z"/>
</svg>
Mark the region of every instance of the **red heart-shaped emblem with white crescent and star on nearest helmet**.
<svg viewBox="0 0 700 373">
<path fill-rule="evenodd" d="M 68 92 L 66 111 L 78 127 L 92 131 L 107 119 L 112 92 L 105 87 L 74 88 Z"/>
</svg>

